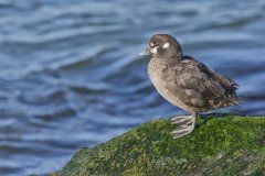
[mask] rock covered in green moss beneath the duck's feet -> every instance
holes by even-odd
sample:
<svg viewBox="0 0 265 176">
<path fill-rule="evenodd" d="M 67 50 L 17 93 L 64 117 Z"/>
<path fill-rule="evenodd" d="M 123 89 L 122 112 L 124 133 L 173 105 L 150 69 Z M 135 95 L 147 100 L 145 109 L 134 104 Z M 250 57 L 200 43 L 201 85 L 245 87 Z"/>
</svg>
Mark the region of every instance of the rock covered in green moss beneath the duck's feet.
<svg viewBox="0 0 265 176">
<path fill-rule="evenodd" d="M 63 176 L 265 175 L 265 117 L 204 117 L 190 135 L 155 120 L 93 148 L 82 148 Z"/>
</svg>

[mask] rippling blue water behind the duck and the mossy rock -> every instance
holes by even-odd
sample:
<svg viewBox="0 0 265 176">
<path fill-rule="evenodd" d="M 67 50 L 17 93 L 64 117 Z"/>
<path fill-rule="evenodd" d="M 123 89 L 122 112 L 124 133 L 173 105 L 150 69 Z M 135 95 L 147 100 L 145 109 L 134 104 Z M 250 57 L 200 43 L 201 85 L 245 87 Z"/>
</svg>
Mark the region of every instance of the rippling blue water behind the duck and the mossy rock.
<svg viewBox="0 0 265 176">
<path fill-rule="evenodd" d="M 138 53 L 170 33 L 265 114 L 265 1 L 0 0 L 0 175 L 43 175 L 140 123 L 184 113 Z"/>
</svg>

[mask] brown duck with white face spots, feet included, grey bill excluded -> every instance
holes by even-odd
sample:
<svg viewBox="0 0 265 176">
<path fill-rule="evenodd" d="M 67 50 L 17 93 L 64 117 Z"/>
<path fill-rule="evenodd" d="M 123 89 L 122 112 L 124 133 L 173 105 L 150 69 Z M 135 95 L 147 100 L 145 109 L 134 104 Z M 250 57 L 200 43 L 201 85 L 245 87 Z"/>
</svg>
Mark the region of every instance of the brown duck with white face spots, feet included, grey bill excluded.
<svg viewBox="0 0 265 176">
<path fill-rule="evenodd" d="M 180 125 L 172 132 L 174 138 L 193 131 L 199 112 L 240 103 L 235 92 L 239 85 L 183 55 L 174 37 L 167 34 L 153 35 L 148 51 L 152 54 L 148 74 L 158 92 L 172 105 L 192 113 L 192 117 L 172 119 L 173 123 Z"/>
</svg>

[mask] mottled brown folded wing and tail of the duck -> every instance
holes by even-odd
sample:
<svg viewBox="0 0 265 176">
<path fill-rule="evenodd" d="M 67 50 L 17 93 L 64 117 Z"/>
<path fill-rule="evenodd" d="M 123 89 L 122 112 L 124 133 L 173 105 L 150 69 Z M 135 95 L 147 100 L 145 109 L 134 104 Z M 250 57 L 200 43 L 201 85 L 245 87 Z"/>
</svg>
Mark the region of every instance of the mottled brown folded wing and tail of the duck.
<svg viewBox="0 0 265 176">
<path fill-rule="evenodd" d="M 192 108 L 209 110 L 239 105 L 234 91 L 237 84 L 192 57 L 183 57 L 167 70 L 170 75 L 174 74 L 173 80 L 168 80 L 168 91 Z"/>
</svg>

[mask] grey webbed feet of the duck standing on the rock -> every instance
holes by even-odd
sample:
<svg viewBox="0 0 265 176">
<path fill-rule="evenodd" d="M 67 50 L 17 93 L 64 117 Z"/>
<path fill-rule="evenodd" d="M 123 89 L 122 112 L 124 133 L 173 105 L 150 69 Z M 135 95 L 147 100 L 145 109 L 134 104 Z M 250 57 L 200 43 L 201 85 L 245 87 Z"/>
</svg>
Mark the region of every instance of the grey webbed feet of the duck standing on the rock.
<svg viewBox="0 0 265 176">
<path fill-rule="evenodd" d="M 199 117 L 199 113 L 193 112 L 191 116 L 176 117 L 171 119 L 172 124 L 178 124 L 178 128 L 171 132 L 173 139 L 190 134 L 194 130 L 195 121 Z"/>
</svg>

